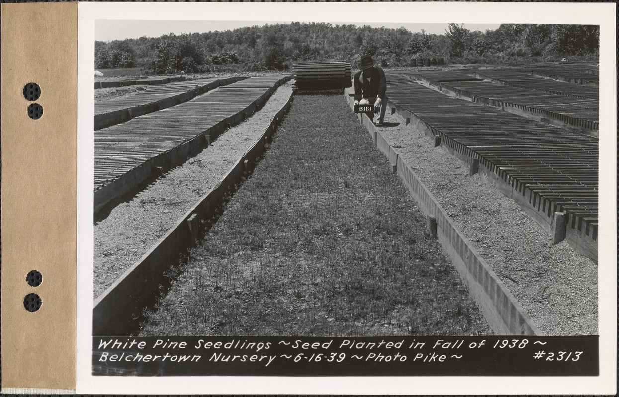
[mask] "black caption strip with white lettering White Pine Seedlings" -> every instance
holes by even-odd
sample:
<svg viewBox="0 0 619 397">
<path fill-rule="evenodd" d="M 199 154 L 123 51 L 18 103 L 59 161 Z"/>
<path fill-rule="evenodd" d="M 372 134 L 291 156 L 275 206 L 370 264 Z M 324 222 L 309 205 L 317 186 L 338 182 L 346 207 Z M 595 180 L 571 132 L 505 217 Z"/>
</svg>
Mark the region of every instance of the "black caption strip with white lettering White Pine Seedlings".
<svg viewBox="0 0 619 397">
<path fill-rule="evenodd" d="M 93 338 L 94 375 L 594 376 L 598 336 Z"/>
</svg>

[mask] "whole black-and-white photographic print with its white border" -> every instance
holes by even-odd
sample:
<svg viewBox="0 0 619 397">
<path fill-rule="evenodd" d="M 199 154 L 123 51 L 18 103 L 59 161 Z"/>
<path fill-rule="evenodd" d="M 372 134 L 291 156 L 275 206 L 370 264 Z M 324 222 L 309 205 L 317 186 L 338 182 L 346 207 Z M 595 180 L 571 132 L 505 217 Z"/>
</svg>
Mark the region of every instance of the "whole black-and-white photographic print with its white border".
<svg viewBox="0 0 619 397">
<path fill-rule="evenodd" d="M 91 382 L 605 374 L 604 29 L 391 4 L 89 9 Z"/>
</svg>

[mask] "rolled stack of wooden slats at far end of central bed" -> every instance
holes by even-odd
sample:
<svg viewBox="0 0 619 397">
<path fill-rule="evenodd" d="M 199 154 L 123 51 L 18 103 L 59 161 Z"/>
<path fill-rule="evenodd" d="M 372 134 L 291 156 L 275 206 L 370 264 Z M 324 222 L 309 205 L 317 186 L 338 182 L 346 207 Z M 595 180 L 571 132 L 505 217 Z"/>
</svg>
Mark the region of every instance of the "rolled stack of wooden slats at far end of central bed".
<svg viewBox="0 0 619 397">
<path fill-rule="evenodd" d="M 341 90 L 351 86 L 350 62 L 302 62 L 293 64 L 292 69 L 295 73 L 293 91 Z"/>
</svg>

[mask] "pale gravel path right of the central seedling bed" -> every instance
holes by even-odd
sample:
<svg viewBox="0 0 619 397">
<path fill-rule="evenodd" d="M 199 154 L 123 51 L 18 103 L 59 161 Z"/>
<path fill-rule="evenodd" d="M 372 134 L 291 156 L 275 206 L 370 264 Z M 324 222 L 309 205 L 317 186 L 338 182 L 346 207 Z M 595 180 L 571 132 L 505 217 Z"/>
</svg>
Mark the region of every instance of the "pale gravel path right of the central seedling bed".
<svg viewBox="0 0 619 397">
<path fill-rule="evenodd" d="M 387 112 L 389 113 L 389 112 Z M 597 335 L 597 265 L 397 115 L 379 128 L 545 335 Z"/>
</svg>

